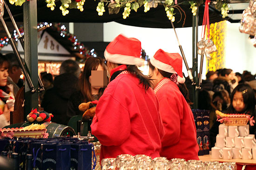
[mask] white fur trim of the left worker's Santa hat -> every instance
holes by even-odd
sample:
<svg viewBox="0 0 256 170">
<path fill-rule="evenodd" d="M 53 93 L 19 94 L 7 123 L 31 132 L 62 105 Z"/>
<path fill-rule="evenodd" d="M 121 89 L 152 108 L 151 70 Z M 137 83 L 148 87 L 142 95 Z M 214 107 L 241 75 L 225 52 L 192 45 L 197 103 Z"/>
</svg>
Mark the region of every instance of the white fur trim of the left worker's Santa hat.
<svg viewBox="0 0 256 170">
<path fill-rule="evenodd" d="M 110 61 L 112 63 L 137 65 L 139 67 L 141 67 L 144 64 L 144 60 L 142 58 L 126 56 L 121 54 L 111 54 L 107 50 L 104 51 L 104 56 L 107 61 Z"/>
</svg>

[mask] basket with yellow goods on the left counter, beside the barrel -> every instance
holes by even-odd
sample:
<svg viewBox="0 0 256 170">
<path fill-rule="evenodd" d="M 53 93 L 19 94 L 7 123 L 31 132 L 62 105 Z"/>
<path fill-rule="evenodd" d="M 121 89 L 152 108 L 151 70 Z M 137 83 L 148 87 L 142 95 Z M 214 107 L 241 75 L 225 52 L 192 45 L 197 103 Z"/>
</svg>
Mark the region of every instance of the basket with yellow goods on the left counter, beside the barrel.
<svg viewBox="0 0 256 170">
<path fill-rule="evenodd" d="M 1 138 L 47 138 L 46 126 L 44 124 L 32 124 L 20 128 L 3 128 L 0 129 Z"/>
</svg>

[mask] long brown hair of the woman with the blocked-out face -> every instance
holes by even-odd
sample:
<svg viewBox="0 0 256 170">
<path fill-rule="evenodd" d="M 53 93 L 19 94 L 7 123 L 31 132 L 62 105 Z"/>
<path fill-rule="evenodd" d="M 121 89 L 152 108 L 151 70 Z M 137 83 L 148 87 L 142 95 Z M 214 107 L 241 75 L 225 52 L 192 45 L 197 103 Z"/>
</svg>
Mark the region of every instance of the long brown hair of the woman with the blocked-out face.
<svg viewBox="0 0 256 170">
<path fill-rule="evenodd" d="M 97 70 L 99 65 L 101 65 L 104 70 L 107 70 L 103 59 L 99 57 L 88 57 L 84 63 L 84 69 L 79 79 L 79 88 L 83 95 L 84 102 L 94 101 L 89 76 L 91 76 L 91 71 Z M 104 90 L 105 88 L 99 89 L 99 96 L 103 94 Z"/>
</svg>

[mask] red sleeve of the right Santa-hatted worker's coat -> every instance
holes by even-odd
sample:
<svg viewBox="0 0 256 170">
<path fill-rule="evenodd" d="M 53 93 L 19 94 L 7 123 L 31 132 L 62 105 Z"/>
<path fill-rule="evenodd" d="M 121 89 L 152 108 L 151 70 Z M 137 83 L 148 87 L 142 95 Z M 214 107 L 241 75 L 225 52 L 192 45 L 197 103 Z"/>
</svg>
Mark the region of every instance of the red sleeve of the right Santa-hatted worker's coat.
<svg viewBox="0 0 256 170">
<path fill-rule="evenodd" d="M 181 134 L 182 99 L 177 94 L 172 93 L 162 97 L 159 103 L 159 113 L 165 130 L 162 146 L 176 144 L 180 140 Z"/>
</svg>

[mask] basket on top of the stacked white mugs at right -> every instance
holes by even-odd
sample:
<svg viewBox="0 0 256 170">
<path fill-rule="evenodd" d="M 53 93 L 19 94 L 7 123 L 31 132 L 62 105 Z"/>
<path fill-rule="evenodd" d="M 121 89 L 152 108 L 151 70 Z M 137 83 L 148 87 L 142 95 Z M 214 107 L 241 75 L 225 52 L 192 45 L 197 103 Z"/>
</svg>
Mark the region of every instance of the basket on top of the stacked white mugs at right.
<svg viewBox="0 0 256 170">
<path fill-rule="evenodd" d="M 226 126 L 246 126 L 248 121 L 253 126 L 255 120 L 249 114 L 226 114 L 216 110 L 217 120 L 225 123 Z"/>
</svg>

